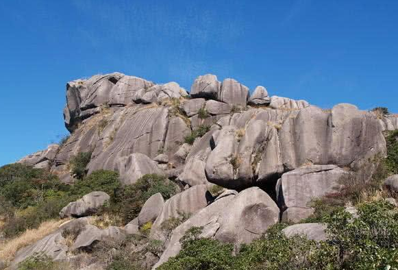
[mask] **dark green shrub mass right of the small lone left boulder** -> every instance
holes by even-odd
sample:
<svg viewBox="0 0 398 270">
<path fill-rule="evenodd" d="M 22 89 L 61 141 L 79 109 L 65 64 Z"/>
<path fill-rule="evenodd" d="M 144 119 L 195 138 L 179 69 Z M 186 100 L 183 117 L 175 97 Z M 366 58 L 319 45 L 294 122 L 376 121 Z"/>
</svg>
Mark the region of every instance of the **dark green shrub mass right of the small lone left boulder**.
<svg viewBox="0 0 398 270">
<path fill-rule="evenodd" d="M 110 194 L 110 200 L 103 207 L 101 213 L 119 217 L 121 222 L 119 225 L 125 225 L 138 216 L 149 197 L 160 193 L 164 199 L 169 199 L 175 195 L 176 191 L 177 185 L 167 180 L 166 177 L 147 174 L 137 180 L 135 184 L 117 187 Z"/>
</svg>

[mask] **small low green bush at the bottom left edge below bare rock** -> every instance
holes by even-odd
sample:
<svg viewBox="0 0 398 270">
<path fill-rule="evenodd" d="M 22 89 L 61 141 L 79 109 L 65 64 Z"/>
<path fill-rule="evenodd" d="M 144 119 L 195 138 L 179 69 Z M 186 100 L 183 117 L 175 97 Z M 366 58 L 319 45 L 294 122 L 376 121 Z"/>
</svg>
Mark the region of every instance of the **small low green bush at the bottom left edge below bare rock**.
<svg viewBox="0 0 398 270">
<path fill-rule="evenodd" d="M 20 262 L 18 270 L 72 270 L 66 262 L 55 262 L 51 257 L 37 254 Z"/>
</svg>

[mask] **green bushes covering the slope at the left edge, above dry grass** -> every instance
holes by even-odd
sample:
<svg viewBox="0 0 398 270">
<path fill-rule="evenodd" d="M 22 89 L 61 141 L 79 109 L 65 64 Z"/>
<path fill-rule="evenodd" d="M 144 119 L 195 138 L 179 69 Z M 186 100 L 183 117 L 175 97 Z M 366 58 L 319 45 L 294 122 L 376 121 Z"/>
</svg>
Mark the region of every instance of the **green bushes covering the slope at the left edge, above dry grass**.
<svg viewBox="0 0 398 270">
<path fill-rule="evenodd" d="M 73 186 L 63 184 L 45 169 L 25 164 L 9 164 L 0 168 L 0 221 L 6 238 L 35 229 L 44 221 L 57 219 L 71 201 L 92 191 L 108 194 L 120 188 L 119 174 L 95 171 L 77 180 Z"/>
</svg>

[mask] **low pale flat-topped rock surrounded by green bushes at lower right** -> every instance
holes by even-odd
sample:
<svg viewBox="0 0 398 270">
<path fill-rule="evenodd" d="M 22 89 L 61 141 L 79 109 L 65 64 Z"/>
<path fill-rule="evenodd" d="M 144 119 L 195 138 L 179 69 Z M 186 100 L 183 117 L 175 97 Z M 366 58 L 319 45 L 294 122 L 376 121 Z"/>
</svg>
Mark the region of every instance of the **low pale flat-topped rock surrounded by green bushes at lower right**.
<svg viewBox="0 0 398 270">
<path fill-rule="evenodd" d="M 326 225 L 321 223 L 301 223 L 290 225 L 282 232 L 287 236 L 295 236 L 295 235 L 303 235 L 306 236 L 309 240 L 314 241 L 325 241 L 327 240 L 327 234 L 325 232 Z"/>
</svg>

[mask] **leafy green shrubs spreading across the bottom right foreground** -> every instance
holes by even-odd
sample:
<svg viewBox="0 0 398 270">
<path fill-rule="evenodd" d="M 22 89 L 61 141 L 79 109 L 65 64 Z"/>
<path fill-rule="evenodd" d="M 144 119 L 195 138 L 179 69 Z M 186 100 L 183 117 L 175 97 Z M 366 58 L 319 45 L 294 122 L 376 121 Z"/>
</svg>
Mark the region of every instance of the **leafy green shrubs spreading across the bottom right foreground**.
<svg viewBox="0 0 398 270">
<path fill-rule="evenodd" d="M 344 210 L 334 211 L 323 220 L 330 241 L 315 242 L 304 236 L 286 237 L 277 224 L 264 236 L 234 247 L 213 239 L 188 236 L 182 251 L 159 270 L 353 270 L 398 269 L 398 211 L 386 201 L 358 206 L 358 217 Z M 195 229 L 196 230 L 196 229 Z"/>
</svg>

